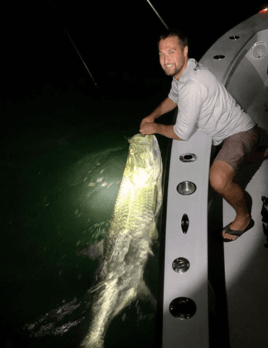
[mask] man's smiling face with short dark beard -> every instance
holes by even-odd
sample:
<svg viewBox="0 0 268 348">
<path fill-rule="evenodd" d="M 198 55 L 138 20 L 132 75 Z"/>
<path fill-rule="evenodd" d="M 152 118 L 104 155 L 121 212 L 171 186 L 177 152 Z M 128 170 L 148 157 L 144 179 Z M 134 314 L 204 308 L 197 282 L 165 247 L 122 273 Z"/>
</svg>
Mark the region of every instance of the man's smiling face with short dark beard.
<svg viewBox="0 0 268 348">
<path fill-rule="evenodd" d="M 178 80 L 187 67 L 188 47 L 182 49 L 176 36 L 160 40 L 159 60 L 166 75 L 173 76 Z"/>
</svg>

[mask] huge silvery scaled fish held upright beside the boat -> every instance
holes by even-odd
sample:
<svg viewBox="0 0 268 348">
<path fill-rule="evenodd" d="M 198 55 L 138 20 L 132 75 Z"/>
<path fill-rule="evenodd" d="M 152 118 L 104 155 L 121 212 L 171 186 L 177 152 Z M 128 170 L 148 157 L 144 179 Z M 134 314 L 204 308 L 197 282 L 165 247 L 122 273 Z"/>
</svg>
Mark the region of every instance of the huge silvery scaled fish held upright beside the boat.
<svg viewBox="0 0 268 348">
<path fill-rule="evenodd" d="M 138 297 L 155 303 L 143 279 L 158 237 L 162 205 L 162 159 L 154 135 L 129 139 L 129 153 L 104 240 L 103 263 L 94 293 L 92 322 L 81 347 L 103 348 L 112 319 Z"/>
</svg>

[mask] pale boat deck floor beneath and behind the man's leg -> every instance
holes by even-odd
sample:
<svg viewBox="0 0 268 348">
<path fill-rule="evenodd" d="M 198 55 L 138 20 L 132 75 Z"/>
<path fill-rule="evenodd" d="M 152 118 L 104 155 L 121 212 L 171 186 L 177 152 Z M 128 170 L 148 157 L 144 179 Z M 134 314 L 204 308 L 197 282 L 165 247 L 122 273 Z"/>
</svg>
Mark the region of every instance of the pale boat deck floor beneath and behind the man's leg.
<svg viewBox="0 0 268 348">
<path fill-rule="evenodd" d="M 259 93 L 247 112 L 261 128 L 261 144 L 268 144 L 268 86 Z M 268 161 L 248 164 L 237 178 L 252 201 L 254 227 L 239 240 L 224 244 L 226 294 L 230 346 L 267 347 L 268 322 L 268 234 L 262 223 L 262 196 L 268 197 Z M 223 202 L 223 225 L 235 217 Z"/>
</svg>

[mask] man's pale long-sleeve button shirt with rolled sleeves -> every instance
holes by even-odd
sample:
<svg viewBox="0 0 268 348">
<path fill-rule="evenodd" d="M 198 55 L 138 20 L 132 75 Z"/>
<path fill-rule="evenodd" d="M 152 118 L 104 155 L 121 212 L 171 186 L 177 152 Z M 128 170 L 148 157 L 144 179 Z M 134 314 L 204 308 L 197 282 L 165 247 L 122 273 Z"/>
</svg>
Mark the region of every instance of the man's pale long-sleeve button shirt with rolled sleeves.
<svg viewBox="0 0 268 348">
<path fill-rule="evenodd" d="M 255 126 L 216 77 L 202 64 L 189 59 L 179 80 L 173 78 L 168 97 L 178 104 L 174 132 L 188 140 L 195 128 L 212 137 L 213 145 Z"/>
</svg>

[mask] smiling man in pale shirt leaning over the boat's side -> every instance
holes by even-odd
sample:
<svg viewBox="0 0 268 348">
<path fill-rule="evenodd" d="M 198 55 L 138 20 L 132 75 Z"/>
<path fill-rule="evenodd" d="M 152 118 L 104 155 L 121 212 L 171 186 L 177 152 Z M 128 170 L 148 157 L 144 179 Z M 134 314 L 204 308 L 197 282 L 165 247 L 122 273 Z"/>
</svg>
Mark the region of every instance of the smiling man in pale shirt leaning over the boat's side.
<svg viewBox="0 0 268 348">
<path fill-rule="evenodd" d="M 235 175 L 245 162 L 268 158 L 268 148 L 257 156 L 258 126 L 207 68 L 188 58 L 188 40 L 182 32 L 169 30 L 160 37 L 158 48 L 164 72 L 173 77 L 172 87 L 168 97 L 142 120 L 140 132 L 186 141 L 196 127 L 212 136 L 214 145 L 223 142 L 209 178 L 212 188 L 236 211 L 234 221 L 222 231 L 223 240 L 236 240 L 253 227 L 254 221 Z M 175 125 L 154 122 L 177 106 Z"/>
</svg>

